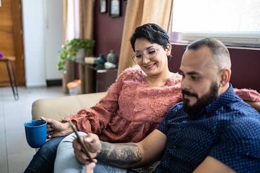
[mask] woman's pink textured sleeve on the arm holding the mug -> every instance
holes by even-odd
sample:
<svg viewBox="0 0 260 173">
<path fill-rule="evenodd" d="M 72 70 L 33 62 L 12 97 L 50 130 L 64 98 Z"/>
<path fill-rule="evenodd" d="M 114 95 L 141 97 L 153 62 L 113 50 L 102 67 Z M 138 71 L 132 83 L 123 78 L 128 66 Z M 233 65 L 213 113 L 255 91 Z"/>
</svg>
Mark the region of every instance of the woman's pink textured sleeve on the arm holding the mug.
<svg viewBox="0 0 260 173">
<path fill-rule="evenodd" d="M 122 79 L 124 71 L 118 77 L 116 82 L 107 90 L 106 96 L 91 108 L 82 108 L 76 115 L 68 116 L 61 122 L 68 122 L 69 120 L 77 121 L 79 131 L 85 133 L 98 134 L 110 122 L 118 110 L 118 97 L 122 89 Z"/>
</svg>

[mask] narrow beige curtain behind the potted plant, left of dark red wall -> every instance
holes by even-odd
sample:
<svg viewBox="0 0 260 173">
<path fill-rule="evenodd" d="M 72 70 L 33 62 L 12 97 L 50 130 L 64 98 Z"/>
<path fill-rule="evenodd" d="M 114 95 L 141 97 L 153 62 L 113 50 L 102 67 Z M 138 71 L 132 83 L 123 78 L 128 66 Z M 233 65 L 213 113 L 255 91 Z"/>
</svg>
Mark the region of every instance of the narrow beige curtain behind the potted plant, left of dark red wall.
<svg viewBox="0 0 260 173">
<path fill-rule="evenodd" d="M 79 38 L 88 38 L 93 40 L 94 30 L 94 1 L 79 0 Z M 90 56 L 90 55 L 87 55 Z M 93 88 L 94 70 L 79 65 L 79 78 L 81 80 L 81 93 L 95 92 Z"/>
</svg>

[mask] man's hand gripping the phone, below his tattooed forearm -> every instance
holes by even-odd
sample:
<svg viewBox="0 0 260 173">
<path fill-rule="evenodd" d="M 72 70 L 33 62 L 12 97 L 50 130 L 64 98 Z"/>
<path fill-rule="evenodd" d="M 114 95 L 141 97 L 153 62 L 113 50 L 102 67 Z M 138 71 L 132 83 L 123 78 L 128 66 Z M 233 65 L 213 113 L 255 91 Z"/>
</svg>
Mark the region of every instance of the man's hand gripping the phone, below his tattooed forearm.
<svg viewBox="0 0 260 173">
<path fill-rule="evenodd" d="M 101 142 L 97 135 L 89 133 L 86 136 L 80 136 L 80 139 L 85 143 L 86 147 L 89 150 L 91 158 L 97 157 L 97 155 L 101 151 Z M 77 138 L 73 141 L 73 148 L 74 148 L 74 154 L 77 160 L 82 164 L 89 164 L 89 158 L 86 156 L 86 154 L 82 151 L 82 146 L 77 141 Z M 97 160 L 93 159 L 96 163 Z"/>
</svg>

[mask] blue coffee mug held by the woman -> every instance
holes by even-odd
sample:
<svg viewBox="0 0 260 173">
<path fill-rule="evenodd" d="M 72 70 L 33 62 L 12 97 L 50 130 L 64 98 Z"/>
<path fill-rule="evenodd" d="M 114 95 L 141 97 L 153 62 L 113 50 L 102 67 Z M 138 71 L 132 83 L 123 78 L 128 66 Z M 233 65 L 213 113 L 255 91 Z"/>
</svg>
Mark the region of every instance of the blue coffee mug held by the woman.
<svg viewBox="0 0 260 173">
<path fill-rule="evenodd" d="M 47 133 L 47 121 L 31 120 L 24 123 L 27 143 L 34 149 L 41 147 L 49 134 Z"/>
</svg>

